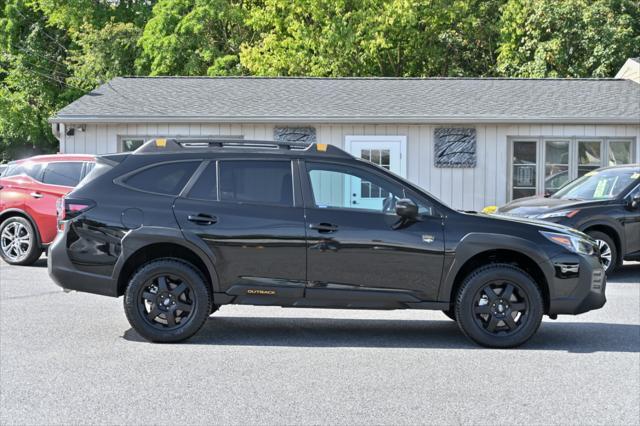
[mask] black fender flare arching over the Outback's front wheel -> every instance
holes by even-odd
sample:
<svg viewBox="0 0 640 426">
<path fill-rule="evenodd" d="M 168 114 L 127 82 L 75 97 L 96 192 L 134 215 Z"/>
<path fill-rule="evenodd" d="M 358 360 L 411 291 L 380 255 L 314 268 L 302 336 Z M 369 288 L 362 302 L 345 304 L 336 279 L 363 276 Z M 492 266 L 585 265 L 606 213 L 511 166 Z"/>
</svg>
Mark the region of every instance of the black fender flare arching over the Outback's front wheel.
<svg viewBox="0 0 640 426">
<path fill-rule="evenodd" d="M 490 247 L 487 246 L 487 241 L 491 241 Z M 511 250 L 527 256 L 542 270 L 547 283 L 552 280 L 554 269 L 549 259 L 550 257 L 553 257 L 553 254 L 555 253 L 553 253 L 552 256 L 549 256 L 548 253 L 540 250 L 533 241 L 521 237 L 505 234 L 472 232 L 462 237 L 460 243 L 458 243 L 454 259 L 451 262 L 449 269 L 444 271 L 444 278 L 438 291 L 438 300 L 443 302 L 451 301 L 451 290 L 455 285 L 456 276 L 469 259 L 478 254 L 495 250 Z"/>
</svg>

